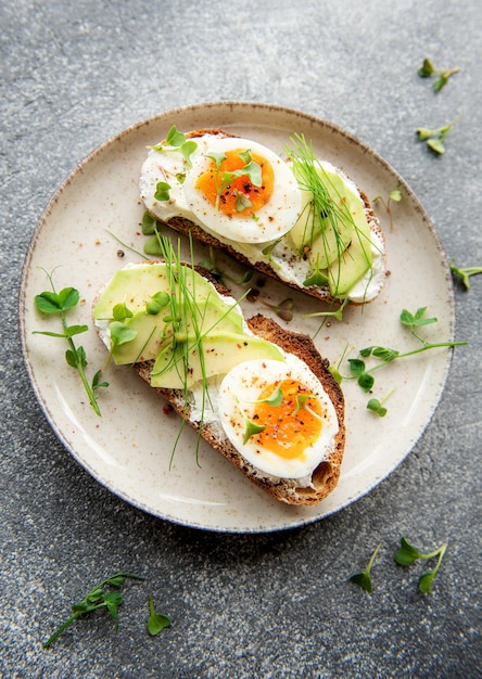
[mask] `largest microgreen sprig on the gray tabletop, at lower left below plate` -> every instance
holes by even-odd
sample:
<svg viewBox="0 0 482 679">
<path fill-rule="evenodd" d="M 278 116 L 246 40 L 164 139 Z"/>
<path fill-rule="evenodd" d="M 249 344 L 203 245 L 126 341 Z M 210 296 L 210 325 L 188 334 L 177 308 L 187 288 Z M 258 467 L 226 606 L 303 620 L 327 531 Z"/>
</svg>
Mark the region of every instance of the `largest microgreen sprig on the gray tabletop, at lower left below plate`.
<svg viewBox="0 0 482 679">
<path fill-rule="evenodd" d="M 118 607 L 123 602 L 123 597 L 118 589 L 124 585 L 126 579 L 143 580 L 140 575 L 134 575 L 132 573 L 116 573 L 98 582 L 86 597 L 73 604 L 71 617 L 63 623 L 59 629 L 43 644 L 45 649 L 48 649 L 52 643 L 67 629 L 75 620 L 80 616 L 97 611 L 99 608 L 106 608 L 111 614 L 115 623 L 115 631 L 118 629 Z"/>
</svg>

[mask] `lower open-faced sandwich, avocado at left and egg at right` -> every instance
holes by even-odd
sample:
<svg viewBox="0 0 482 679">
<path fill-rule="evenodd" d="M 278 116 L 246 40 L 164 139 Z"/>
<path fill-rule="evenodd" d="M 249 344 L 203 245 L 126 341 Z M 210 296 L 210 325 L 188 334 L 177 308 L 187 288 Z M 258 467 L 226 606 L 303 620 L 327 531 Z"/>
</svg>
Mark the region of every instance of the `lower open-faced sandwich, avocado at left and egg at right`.
<svg viewBox="0 0 482 679">
<path fill-rule="evenodd" d="M 289 504 L 337 485 L 343 394 L 313 341 L 238 302 L 163 240 L 163 261 L 128 265 L 93 318 L 117 364 L 131 364 L 211 446 Z"/>
</svg>

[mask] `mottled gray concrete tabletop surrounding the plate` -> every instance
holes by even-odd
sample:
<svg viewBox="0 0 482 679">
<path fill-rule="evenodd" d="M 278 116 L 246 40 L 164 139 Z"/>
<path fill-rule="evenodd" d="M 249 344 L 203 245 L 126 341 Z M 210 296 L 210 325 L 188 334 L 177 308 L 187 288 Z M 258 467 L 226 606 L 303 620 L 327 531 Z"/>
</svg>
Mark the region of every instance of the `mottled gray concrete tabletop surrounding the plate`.
<svg viewBox="0 0 482 679">
<path fill-rule="evenodd" d="M 456 285 L 457 338 L 440 407 L 368 496 L 301 529 L 223 535 L 116 498 L 49 427 L 23 367 L 21 268 L 55 188 L 99 143 L 203 101 L 282 104 L 356 133 L 410 184 L 449 257 L 482 265 L 482 5 L 475 0 L 242 3 L 4 0 L 1 16 L 2 677 L 481 676 L 482 276 Z M 437 95 L 423 56 L 460 66 Z M 447 153 L 416 141 L 458 112 Z M 433 591 L 392 561 L 399 536 L 448 541 Z M 373 547 L 371 595 L 347 582 Z M 117 635 L 79 622 L 41 648 L 69 604 L 118 568 Z M 173 620 L 145 633 L 147 598 Z"/>
</svg>

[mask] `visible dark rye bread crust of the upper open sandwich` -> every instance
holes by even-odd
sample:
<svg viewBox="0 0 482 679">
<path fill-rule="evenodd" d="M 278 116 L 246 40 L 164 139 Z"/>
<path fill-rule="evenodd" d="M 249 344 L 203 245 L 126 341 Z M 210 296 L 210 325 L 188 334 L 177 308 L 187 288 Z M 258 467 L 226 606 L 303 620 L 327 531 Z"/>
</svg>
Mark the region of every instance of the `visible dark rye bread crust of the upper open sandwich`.
<svg viewBox="0 0 482 679">
<path fill-rule="evenodd" d="M 188 139 L 195 139 L 196 137 L 202 137 L 204 134 L 213 134 L 215 137 L 221 137 L 221 138 L 226 138 L 226 137 L 236 138 L 236 137 L 238 137 L 237 134 L 232 134 L 232 133 L 226 132 L 225 130 L 223 130 L 220 128 L 216 128 L 216 129 L 200 129 L 200 130 L 188 132 L 186 134 L 186 137 Z M 362 197 L 362 200 L 363 200 L 363 202 L 365 204 L 365 215 L 367 217 L 367 221 L 368 221 L 368 225 L 370 227 L 370 230 L 378 235 L 378 238 L 380 239 L 380 241 L 384 245 L 385 241 L 384 241 L 383 231 L 381 229 L 381 226 L 380 226 L 380 222 L 378 220 L 378 217 L 375 214 L 375 212 L 373 212 L 373 209 L 372 209 L 372 207 L 370 205 L 368 196 L 363 191 L 360 191 L 360 189 L 358 189 L 358 193 L 359 193 L 359 195 L 360 195 L 360 197 Z M 141 196 L 141 200 L 142 200 L 142 196 Z M 147 206 L 147 209 L 150 213 L 151 217 L 153 217 L 154 219 L 158 219 L 158 217 L 152 210 L 149 210 L 148 206 Z M 211 233 L 207 233 L 206 231 L 204 231 L 204 229 L 202 227 L 200 227 L 199 225 L 190 221 L 189 219 L 187 219 L 185 217 L 170 217 L 164 223 L 166 223 L 168 227 L 170 227 L 172 229 L 174 229 L 178 233 L 181 233 L 183 235 L 191 235 L 195 241 L 198 241 L 199 243 L 202 243 L 203 245 L 208 245 L 211 247 L 217 247 L 217 248 L 221 249 L 223 252 L 227 253 L 229 256 L 231 256 L 233 259 L 237 259 L 240 264 L 242 264 L 243 266 L 248 267 L 249 269 L 254 269 L 254 270 L 258 271 L 259 273 L 268 276 L 268 277 L 275 279 L 278 282 L 283 283 L 284 285 L 288 285 L 289 287 L 292 287 L 293 290 L 297 290 L 299 292 L 303 292 L 306 295 L 310 295 L 312 297 L 315 297 L 316 299 L 322 300 L 322 302 L 325 302 L 327 304 L 331 304 L 331 303 L 333 303 L 335 300 L 333 298 L 333 296 L 332 296 L 328 285 L 327 286 L 304 287 L 303 285 L 299 285 L 299 284 L 293 283 L 291 281 L 283 281 L 282 279 L 279 278 L 279 276 L 276 273 L 276 271 L 268 264 L 266 264 L 264 261 L 258 261 L 258 262 L 253 264 L 252 261 L 250 261 L 248 259 L 248 257 L 245 257 L 243 254 L 239 253 L 232 245 L 229 245 L 227 243 L 223 243 L 215 235 L 212 235 Z M 385 269 L 385 257 L 384 256 L 383 256 L 383 267 Z M 385 276 L 386 276 L 386 271 L 385 271 Z M 381 291 L 381 287 L 380 287 L 380 291 Z M 376 297 L 377 296 L 378 296 L 378 294 L 376 295 Z M 373 299 L 376 297 L 373 297 Z M 370 302 L 372 302 L 372 299 L 370 299 Z M 350 304 L 355 305 L 357 303 L 351 302 Z"/>
</svg>

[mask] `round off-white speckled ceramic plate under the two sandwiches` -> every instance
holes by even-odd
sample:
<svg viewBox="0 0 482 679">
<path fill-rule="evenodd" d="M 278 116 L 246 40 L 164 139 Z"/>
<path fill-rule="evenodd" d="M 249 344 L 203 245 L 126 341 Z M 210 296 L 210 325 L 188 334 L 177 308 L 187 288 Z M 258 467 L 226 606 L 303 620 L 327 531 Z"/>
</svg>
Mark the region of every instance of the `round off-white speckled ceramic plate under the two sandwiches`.
<svg viewBox="0 0 482 679">
<path fill-rule="evenodd" d="M 275 282 L 267 281 L 263 289 L 267 302 L 294 299 L 295 316 L 288 326 L 316 335 L 321 354 L 331 362 L 340 359 L 345 347 L 350 357 L 373 344 L 414 347 L 398 320 L 403 308 L 415 311 L 428 306 L 439 322 L 423 329 L 424 334 L 433 341 L 453 338 L 452 279 L 443 248 L 414 193 L 380 156 L 340 128 L 300 112 L 253 103 L 210 103 L 163 113 L 123 131 L 89 155 L 52 197 L 31 240 L 22 282 L 23 347 L 35 393 L 75 459 L 117 496 L 147 512 L 192 527 L 240 533 L 319 520 L 368 492 L 410 451 L 441 397 L 449 350 L 426 351 L 377 373 L 373 396 L 382 398 L 395 387 L 383 419 L 366 409 L 368 396 L 354 382 L 343 382 L 347 441 L 339 486 L 318 507 L 293 508 L 269 498 L 206 445 L 201 445 L 198 464 L 195 435 L 189 427 L 169 470 L 179 420 L 163 412 L 163 402 L 148 385 L 128 368 L 111 367 L 98 418 L 86 402 L 76 371 L 64 361 L 64 341 L 33 334 L 58 330 L 58 319 L 41 318 L 34 306 L 34 296 L 49 290 L 42 269 L 55 269 L 56 289 L 73 285 L 83 297 L 69 322 L 90 328 L 78 338 L 87 351 L 90 376 L 105 361 L 105 349 L 92 329 L 91 303 L 116 269 L 138 259 L 109 231 L 142 251 L 139 171 L 145 148 L 162 140 L 173 124 L 185 131 L 223 127 L 281 154 L 293 132 L 304 133 L 318 155 L 343 168 L 371 200 L 402 190 L 402 202 L 393 205 L 393 228 L 383 206 L 376 204 L 391 271 L 376 302 L 350 309 L 343 322 L 333 320 L 320 329 L 320 319 L 303 318 L 319 309 L 310 298 Z M 206 253 L 200 249 L 196 257 L 205 259 Z M 223 268 L 223 259 L 219 264 Z M 265 305 L 244 303 L 248 316 L 259 309 L 270 313 Z M 347 374 L 346 362 L 342 370 Z"/>
</svg>

